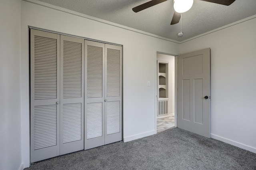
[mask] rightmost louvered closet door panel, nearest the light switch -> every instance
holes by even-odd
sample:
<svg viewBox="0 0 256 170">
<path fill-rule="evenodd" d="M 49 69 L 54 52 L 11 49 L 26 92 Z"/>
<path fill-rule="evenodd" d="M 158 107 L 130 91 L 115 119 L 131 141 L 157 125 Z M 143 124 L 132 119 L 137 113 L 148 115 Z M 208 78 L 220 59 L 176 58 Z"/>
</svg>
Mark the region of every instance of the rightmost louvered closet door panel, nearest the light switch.
<svg viewBox="0 0 256 170">
<path fill-rule="evenodd" d="M 105 144 L 122 140 L 122 46 L 105 44 Z"/>
</svg>

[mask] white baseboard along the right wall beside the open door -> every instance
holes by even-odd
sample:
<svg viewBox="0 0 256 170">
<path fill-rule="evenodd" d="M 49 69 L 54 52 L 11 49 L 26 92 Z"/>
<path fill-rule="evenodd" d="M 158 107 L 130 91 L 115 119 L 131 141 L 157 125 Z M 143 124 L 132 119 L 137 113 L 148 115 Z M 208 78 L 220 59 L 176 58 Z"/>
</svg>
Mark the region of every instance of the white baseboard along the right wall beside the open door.
<svg viewBox="0 0 256 170">
<path fill-rule="evenodd" d="M 248 146 L 248 145 L 245 145 L 245 144 L 236 142 L 236 141 L 234 141 L 234 140 L 230 140 L 230 139 L 227 139 L 227 138 L 223 138 L 223 137 L 218 136 L 218 135 L 215 135 L 215 134 L 211 134 L 211 138 L 216 139 L 216 140 L 220 140 L 220 141 L 222 141 L 222 142 L 231 144 L 231 145 L 236 146 L 236 147 L 238 147 L 238 148 L 242 148 L 242 149 L 248 150 L 248 151 L 250 151 L 250 152 L 256 153 L 256 148 L 254 148 L 254 147 L 252 147 L 252 146 Z"/>
</svg>

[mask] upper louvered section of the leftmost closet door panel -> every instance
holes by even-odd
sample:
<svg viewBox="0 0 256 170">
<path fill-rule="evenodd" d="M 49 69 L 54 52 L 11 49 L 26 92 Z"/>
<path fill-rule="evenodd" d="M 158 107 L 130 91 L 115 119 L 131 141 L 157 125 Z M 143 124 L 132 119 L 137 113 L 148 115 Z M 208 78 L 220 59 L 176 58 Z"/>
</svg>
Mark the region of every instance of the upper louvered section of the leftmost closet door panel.
<svg viewBox="0 0 256 170">
<path fill-rule="evenodd" d="M 56 39 L 34 36 L 34 99 L 57 99 Z"/>
</svg>

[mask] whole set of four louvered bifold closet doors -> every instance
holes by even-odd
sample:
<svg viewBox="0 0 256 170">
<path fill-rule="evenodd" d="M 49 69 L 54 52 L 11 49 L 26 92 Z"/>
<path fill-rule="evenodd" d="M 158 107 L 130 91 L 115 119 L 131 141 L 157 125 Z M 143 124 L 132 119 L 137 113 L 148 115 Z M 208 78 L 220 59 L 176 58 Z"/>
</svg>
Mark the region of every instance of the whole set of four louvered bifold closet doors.
<svg viewBox="0 0 256 170">
<path fill-rule="evenodd" d="M 30 162 L 122 140 L 122 46 L 30 30 Z"/>
</svg>

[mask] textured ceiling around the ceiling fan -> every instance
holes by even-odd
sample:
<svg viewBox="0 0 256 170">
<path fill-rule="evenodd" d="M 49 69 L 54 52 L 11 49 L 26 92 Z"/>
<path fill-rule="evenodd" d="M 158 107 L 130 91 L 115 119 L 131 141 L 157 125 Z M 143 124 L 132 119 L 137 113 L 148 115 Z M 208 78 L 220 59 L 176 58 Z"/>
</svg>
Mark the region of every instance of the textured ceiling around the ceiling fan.
<svg viewBox="0 0 256 170">
<path fill-rule="evenodd" d="M 183 36 L 178 37 L 180 22 L 170 25 L 174 13 L 173 0 L 138 13 L 133 12 L 132 8 L 150 0 L 40 1 L 177 41 L 187 40 L 256 14 L 256 0 L 236 0 L 230 6 L 194 0 L 192 8 L 182 14 Z"/>
</svg>

